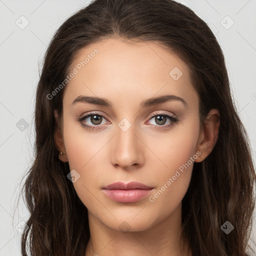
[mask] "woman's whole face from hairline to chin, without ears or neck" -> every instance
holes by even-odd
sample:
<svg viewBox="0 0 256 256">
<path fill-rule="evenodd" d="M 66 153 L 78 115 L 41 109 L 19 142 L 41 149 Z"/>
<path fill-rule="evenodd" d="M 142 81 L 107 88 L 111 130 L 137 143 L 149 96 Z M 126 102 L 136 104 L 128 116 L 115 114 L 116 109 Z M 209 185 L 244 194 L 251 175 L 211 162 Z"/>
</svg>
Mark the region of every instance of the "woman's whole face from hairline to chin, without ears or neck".
<svg viewBox="0 0 256 256">
<path fill-rule="evenodd" d="M 81 49 L 70 70 L 63 142 L 89 217 L 132 231 L 180 215 L 201 134 L 187 65 L 156 43 L 109 38 Z M 118 181 L 151 189 L 103 189 Z"/>
</svg>

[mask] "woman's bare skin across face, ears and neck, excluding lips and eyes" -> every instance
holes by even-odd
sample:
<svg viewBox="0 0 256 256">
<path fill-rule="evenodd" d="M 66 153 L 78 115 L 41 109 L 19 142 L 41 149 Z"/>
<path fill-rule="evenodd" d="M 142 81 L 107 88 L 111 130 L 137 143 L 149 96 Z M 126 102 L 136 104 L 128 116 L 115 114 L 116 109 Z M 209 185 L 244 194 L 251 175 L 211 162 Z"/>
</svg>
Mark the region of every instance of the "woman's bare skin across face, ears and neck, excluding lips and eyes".
<svg viewBox="0 0 256 256">
<path fill-rule="evenodd" d="M 200 157 L 195 162 L 207 157 L 217 140 L 219 112 L 211 109 L 200 129 L 199 98 L 188 66 L 156 42 L 130 43 L 110 37 L 77 52 L 72 68 L 95 48 L 98 54 L 65 87 L 63 118 L 55 112 L 59 123 L 55 143 L 64 153 L 59 154 L 59 159 L 68 161 L 70 170 L 79 173 L 73 185 L 88 209 L 91 235 L 85 256 L 181 255 L 181 200 L 189 185 L 193 162 L 153 202 L 149 196 L 161 189 L 196 152 L 200 152 Z M 177 80 L 169 75 L 174 67 L 183 73 Z M 165 94 L 183 98 L 187 106 L 170 100 L 140 108 L 143 100 Z M 104 97 L 113 106 L 72 104 L 79 95 Z M 99 129 L 88 130 L 77 121 L 91 111 L 106 117 L 102 117 Z M 155 117 L 150 119 L 150 114 L 166 113 L 178 118 L 170 127 L 164 127 L 171 123 L 168 118 L 162 125 Z M 126 131 L 118 126 L 123 118 L 131 124 Z M 97 125 L 90 117 L 83 122 Z M 137 202 L 120 203 L 101 190 L 116 181 L 138 181 L 153 189 Z M 121 223 L 126 232 L 120 230 Z M 191 255 L 187 248 L 183 255 Z"/>
</svg>

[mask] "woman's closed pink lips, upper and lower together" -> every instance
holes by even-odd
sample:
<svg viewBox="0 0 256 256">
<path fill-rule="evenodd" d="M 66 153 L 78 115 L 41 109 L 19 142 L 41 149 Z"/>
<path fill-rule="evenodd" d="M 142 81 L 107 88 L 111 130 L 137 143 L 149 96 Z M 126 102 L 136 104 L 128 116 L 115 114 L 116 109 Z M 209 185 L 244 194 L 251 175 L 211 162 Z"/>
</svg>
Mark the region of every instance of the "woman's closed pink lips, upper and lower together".
<svg viewBox="0 0 256 256">
<path fill-rule="evenodd" d="M 103 187 L 105 195 L 117 202 L 136 202 L 145 197 L 153 187 L 140 182 L 114 182 Z"/>
</svg>

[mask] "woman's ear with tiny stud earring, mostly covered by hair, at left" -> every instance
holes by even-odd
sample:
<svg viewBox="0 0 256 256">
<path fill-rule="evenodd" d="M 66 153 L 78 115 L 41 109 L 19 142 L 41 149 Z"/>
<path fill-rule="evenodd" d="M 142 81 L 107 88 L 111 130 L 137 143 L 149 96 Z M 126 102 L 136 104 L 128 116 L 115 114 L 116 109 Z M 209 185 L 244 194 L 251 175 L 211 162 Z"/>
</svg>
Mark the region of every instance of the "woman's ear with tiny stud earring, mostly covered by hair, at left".
<svg viewBox="0 0 256 256">
<path fill-rule="evenodd" d="M 55 123 L 56 123 L 55 129 L 54 129 L 54 143 L 57 150 L 59 151 L 58 158 L 62 162 L 67 162 L 68 159 L 67 159 L 64 140 L 63 140 L 62 131 L 61 131 L 61 124 L 60 124 L 61 122 L 56 109 L 54 109 L 54 116 L 55 116 Z M 62 154 L 60 152 L 62 152 Z"/>
</svg>

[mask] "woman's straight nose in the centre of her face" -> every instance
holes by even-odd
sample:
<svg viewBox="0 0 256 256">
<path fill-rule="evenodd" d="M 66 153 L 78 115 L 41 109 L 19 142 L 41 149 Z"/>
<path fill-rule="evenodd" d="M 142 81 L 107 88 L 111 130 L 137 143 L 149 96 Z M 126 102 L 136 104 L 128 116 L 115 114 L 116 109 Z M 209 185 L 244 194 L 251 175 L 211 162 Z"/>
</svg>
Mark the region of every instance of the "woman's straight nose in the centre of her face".
<svg viewBox="0 0 256 256">
<path fill-rule="evenodd" d="M 139 135 L 135 134 L 134 126 L 126 131 L 117 127 L 111 147 L 111 163 L 123 169 L 134 169 L 143 164 L 143 143 Z"/>
</svg>

